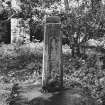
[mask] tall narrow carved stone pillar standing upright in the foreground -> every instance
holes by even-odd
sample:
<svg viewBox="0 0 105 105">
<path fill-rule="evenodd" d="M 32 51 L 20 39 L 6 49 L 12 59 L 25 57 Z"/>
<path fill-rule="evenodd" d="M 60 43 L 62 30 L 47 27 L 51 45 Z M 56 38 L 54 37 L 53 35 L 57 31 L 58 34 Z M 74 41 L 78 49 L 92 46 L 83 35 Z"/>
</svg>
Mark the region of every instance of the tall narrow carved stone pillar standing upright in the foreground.
<svg viewBox="0 0 105 105">
<path fill-rule="evenodd" d="M 44 52 L 42 85 L 46 86 L 49 78 L 58 77 L 60 85 L 63 85 L 62 72 L 62 36 L 61 23 L 57 16 L 47 17 L 44 27 Z"/>
</svg>

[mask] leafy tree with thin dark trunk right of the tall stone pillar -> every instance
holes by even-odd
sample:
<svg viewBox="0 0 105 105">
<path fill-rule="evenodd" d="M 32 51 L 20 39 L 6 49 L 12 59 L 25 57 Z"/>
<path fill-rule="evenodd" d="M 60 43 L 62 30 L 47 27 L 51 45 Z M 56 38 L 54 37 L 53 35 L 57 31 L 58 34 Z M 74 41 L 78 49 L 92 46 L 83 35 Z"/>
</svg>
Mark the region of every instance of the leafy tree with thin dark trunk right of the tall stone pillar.
<svg viewBox="0 0 105 105">
<path fill-rule="evenodd" d="M 100 0 L 75 1 L 78 4 L 76 7 L 66 8 L 63 32 L 70 40 L 73 55 L 76 53 L 80 56 L 81 45 L 91 38 L 97 39 L 104 35 L 104 4 Z"/>
</svg>

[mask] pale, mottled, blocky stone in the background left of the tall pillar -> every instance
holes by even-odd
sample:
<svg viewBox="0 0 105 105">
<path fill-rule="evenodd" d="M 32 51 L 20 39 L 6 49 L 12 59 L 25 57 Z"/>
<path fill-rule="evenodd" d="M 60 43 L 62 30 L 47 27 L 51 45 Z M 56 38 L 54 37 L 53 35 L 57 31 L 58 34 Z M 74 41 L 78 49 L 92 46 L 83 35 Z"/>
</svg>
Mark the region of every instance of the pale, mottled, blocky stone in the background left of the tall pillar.
<svg viewBox="0 0 105 105">
<path fill-rule="evenodd" d="M 22 18 L 11 19 L 11 43 L 30 40 L 30 28 L 28 21 Z"/>
</svg>

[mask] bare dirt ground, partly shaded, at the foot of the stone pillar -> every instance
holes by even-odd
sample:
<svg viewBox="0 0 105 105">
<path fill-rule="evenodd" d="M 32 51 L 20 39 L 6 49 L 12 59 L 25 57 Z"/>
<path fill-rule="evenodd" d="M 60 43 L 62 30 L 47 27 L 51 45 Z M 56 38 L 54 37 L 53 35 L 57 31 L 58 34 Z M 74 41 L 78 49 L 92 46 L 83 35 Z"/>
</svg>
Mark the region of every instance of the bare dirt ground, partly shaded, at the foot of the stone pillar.
<svg viewBox="0 0 105 105">
<path fill-rule="evenodd" d="M 41 93 L 40 89 L 40 85 L 22 85 L 11 105 L 96 105 L 95 99 L 86 96 L 79 88 L 54 93 Z"/>
</svg>

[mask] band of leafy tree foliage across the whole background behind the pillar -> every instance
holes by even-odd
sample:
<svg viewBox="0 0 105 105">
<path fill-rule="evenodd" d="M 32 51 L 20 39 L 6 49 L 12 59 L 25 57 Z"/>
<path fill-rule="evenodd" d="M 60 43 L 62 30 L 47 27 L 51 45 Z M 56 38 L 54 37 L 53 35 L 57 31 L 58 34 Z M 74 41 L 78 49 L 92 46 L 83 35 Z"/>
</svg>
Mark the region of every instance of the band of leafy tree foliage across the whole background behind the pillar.
<svg viewBox="0 0 105 105">
<path fill-rule="evenodd" d="M 105 5 L 101 0 L 20 0 L 18 9 L 11 6 L 11 0 L 1 2 L 1 17 L 6 17 L 7 20 L 11 17 L 30 18 L 33 33 L 37 32 L 39 27 L 43 32 L 45 15 L 60 16 L 61 30 L 76 56 L 80 56 L 80 48 L 86 41 L 102 37 L 105 33 Z M 62 5 L 65 5 L 65 8 Z"/>
</svg>

